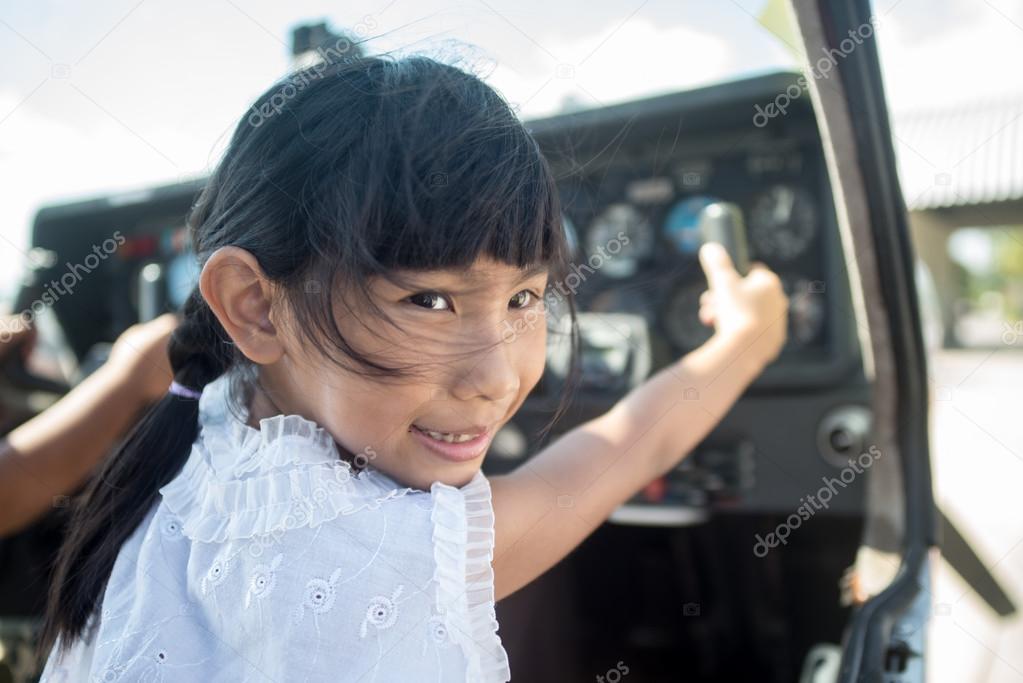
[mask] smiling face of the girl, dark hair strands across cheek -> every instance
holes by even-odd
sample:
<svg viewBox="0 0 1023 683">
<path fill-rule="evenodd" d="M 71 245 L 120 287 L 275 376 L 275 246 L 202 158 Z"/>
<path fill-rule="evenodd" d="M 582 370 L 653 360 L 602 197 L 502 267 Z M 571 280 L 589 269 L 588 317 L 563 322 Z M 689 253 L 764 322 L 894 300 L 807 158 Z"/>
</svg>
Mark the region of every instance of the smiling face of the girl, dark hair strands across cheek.
<svg viewBox="0 0 1023 683">
<path fill-rule="evenodd" d="M 415 364 L 414 376 L 347 372 L 305 352 L 287 333 L 293 326 L 282 324 L 277 331 L 285 335 L 284 354 L 262 366 L 263 384 L 279 411 L 314 420 L 403 486 L 429 491 L 433 482 L 442 482 L 460 487 L 480 469 L 494 434 L 543 373 L 548 273 L 487 258 L 468 272 L 405 274 L 414 289 L 382 278 L 371 282 L 377 305 L 401 329 L 373 317 L 352 297 L 352 310 L 337 317 L 356 350 L 388 365 Z M 262 417 L 258 406 L 257 399 L 256 419 Z M 454 442 L 481 436 L 448 443 L 424 429 L 456 434 Z"/>
</svg>

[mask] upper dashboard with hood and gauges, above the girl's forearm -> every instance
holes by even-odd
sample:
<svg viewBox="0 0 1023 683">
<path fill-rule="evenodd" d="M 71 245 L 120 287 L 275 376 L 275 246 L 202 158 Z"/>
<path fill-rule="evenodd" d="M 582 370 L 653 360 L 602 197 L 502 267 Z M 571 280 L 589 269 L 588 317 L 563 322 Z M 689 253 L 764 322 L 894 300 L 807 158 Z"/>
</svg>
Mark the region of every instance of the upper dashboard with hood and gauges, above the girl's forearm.
<svg viewBox="0 0 1023 683">
<path fill-rule="evenodd" d="M 794 108 L 758 129 L 743 116 L 749 93 L 730 94 L 728 101 L 726 89 L 715 93 L 721 116 L 701 101 L 704 91 L 607 107 L 588 119 L 532 122 L 560 179 L 563 223 L 576 245 L 572 289 L 585 367 L 627 353 L 649 355 L 656 370 L 711 336 L 698 317 L 707 288 L 699 220 L 720 201 L 742 211 L 751 260 L 779 274 L 790 300 L 787 344 L 754 385 L 828 385 L 856 366 L 845 264 L 812 111 Z M 610 314 L 641 321 L 649 347 L 624 334 L 625 352 L 587 344 L 587 334 L 615 328 Z M 567 367 L 558 354 L 568 351 L 563 345 L 548 358 L 554 384 Z M 583 389 L 615 393 L 634 384 L 625 375 L 609 381 L 609 374 L 608 367 L 583 373 Z"/>
</svg>

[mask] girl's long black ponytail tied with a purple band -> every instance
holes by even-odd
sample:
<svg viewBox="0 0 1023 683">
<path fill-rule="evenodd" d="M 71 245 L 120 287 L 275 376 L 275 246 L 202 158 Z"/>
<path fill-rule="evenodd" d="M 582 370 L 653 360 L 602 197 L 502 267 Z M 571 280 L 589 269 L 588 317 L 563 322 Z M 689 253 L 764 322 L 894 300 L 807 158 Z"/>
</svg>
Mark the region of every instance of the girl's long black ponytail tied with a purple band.
<svg viewBox="0 0 1023 683">
<path fill-rule="evenodd" d="M 202 391 L 234 364 L 234 347 L 198 287 L 182 314 L 168 344 L 174 379 Z M 197 435 L 198 401 L 164 395 L 76 499 L 47 595 L 35 652 L 39 661 L 58 638 L 62 655 L 83 635 L 121 546 L 157 502 L 160 489 L 184 466 Z"/>
</svg>

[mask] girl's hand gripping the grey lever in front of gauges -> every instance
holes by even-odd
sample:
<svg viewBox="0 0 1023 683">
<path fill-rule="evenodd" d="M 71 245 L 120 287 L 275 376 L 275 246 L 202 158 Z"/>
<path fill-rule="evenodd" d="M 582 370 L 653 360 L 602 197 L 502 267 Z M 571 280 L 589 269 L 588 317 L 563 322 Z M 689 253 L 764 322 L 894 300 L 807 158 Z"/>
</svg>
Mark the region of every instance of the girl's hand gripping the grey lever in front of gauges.
<svg viewBox="0 0 1023 683">
<path fill-rule="evenodd" d="M 700 265 L 709 287 L 700 297 L 700 321 L 713 325 L 715 335 L 748 339 L 749 352 L 765 365 L 774 360 L 785 346 L 789 313 L 779 276 L 754 263 L 743 277 L 716 242 L 700 248 Z"/>
</svg>

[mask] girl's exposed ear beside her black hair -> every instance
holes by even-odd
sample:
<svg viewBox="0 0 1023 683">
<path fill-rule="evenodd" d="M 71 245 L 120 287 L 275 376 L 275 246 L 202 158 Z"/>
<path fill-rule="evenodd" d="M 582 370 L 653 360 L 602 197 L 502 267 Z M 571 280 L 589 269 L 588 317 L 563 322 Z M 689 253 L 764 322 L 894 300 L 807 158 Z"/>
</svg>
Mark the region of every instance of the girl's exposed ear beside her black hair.
<svg viewBox="0 0 1023 683">
<path fill-rule="evenodd" d="M 246 358 L 260 365 L 280 360 L 283 339 L 270 321 L 273 285 L 259 262 L 238 246 L 222 246 L 207 260 L 198 288 Z"/>
</svg>

